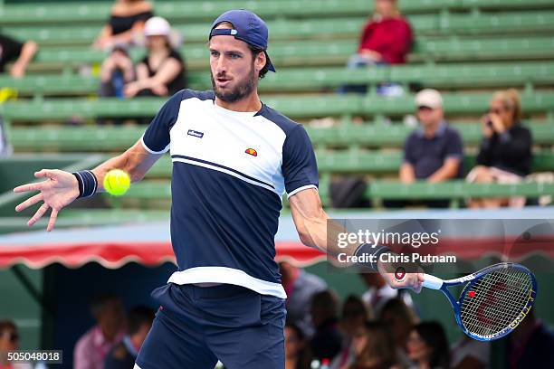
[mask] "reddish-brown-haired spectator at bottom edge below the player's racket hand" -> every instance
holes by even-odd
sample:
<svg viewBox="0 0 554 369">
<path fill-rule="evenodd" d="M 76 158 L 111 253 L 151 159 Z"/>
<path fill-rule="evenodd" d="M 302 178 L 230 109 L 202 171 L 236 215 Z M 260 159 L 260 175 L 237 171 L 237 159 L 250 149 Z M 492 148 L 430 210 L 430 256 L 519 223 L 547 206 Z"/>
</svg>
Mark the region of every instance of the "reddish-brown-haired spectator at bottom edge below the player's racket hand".
<svg viewBox="0 0 554 369">
<path fill-rule="evenodd" d="M 356 358 L 354 363 L 344 365 L 341 369 L 395 369 L 399 368 L 396 360 L 395 344 L 380 322 L 371 322 L 358 326 L 354 337 Z"/>
</svg>

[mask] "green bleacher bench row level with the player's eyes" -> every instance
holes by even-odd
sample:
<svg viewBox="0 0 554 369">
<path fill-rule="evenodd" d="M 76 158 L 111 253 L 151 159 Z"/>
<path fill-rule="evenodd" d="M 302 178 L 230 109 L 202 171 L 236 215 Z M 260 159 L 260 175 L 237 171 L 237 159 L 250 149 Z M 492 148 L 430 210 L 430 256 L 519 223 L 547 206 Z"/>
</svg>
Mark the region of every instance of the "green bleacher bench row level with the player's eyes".
<svg viewBox="0 0 554 369">
<path fill-rule="evenodd" d="M 277 68 L 320 65 L 344 66 L 357 49 L 356 40 L 311 40 L 272 43 L 270 54 Z M 208 53 L 205 43 L 189 44 L 182 50 L 189 70 L 206 70 Z M 131 52 L 134 60 L 144 55 L 141 50 Z M 89 47 L 43 47 L 31 65 L 34 71 L 62 69 L 64 66 L 100 63 L 106 57 Z M 460 38 L 422 39 L 409 55 L 410 61 L 486 61 L 534 60 L 554 57 L 554 37 Z M 282 69 L 280 69 L 282 71 Z"/>
</svg>

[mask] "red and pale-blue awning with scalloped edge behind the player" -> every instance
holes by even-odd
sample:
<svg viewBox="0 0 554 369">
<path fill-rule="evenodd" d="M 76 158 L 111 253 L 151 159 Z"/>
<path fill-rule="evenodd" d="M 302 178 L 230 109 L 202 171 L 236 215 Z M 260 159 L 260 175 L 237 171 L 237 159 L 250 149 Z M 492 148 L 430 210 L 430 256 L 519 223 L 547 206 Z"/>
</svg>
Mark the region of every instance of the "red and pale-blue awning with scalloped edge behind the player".
<svg viewBox="0 0 554 369">
<path fill-rule="evenodd" d="M 444 214 L 446 213 L 441 213 L 446 218 Z M 460 214 L 467 213 L 454 213 L 453 216 Z M 418 219 L 422 218 L 421 215 L 396 214 L 398 219 Z M 379 214 L 374 216 L 377 217 Z M 482 213 L 478 216 L 482 216 Z M 417 251 L 432 255 L 454 254 L 462 260 L 495 257 L 500 260 L 519 261 L 534 255 L 554 260 L 554 227 L 550 222 L 507 222 L 509 223 L 497 229 L 485 226 L 479 230 L 480 232 L 476 230 L 482 224 L 481 220 L 465 222 L 464 226 L 455 223 L 455 227 L 443 229 L 437 247 L 425 247 Z M 533 228 L 535 223 L 546 226 Z M 282 216 L 275 244 L 277 260 L 290 260 L 299 266 L 308 266 L 327 258 L 320 251 L 306 247 L 298 241 L 298 234 L 290 215 Z M 147 266 L 167 261 L 175 262 L 169 224 L 166 221 L 53 232 L 37 230 L 0 236 L 1 269 L 17 263 L 38 269 L 56 262 L 70 268 L 78 268 L 91 261 L 110 269 L 120 268 L 128 262 L 138 262 Z"/>
</svg>

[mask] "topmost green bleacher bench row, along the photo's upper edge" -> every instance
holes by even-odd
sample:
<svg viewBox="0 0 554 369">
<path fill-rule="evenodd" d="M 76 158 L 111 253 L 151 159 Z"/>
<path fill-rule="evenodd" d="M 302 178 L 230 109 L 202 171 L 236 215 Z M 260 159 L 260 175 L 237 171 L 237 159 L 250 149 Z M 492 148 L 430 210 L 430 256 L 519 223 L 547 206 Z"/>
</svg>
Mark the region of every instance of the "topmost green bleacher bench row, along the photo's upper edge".
<svg viewBox="0 0 554 369">
<path fill-rule="evenodd" d="M 5 5 L 0 8 L 0 24 L 59 24 L 101 23 L 110 13 L 110 3 L 60 5 Z M 367 0 L 257 0 L 211 2 L 157 2 L 156 13 L 170 21 L 213 20 L 224 11 L 248 7 L 260 16 L 279 17 L 344 16 L 369 14 L 373 5 Z M 456 11 L 551 9 L 549 0 L 404 0 L 400 7 L 405 14 Z"/>
</svg>

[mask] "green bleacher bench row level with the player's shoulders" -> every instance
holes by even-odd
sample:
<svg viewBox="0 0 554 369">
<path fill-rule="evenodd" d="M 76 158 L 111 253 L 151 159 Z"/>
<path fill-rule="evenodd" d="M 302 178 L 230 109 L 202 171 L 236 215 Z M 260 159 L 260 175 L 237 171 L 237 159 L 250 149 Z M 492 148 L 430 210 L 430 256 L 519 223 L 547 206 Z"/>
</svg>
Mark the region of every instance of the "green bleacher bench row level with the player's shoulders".
<svg viewBox="0 0 554 369">
<path fill-rule="evenodd" d="M 291 118 L 316 118 L 348 115 L 412 114 L 415 110 L 414 96 L 399 98 L 359 95 L 319 96 L 263 96 L 263 102 Z M 490 93 L 445 93 L 444 109 L 451 116 L 456 114 L 481 113 L 488 108 Z M 0 114 L 10 121 L 63 120 L 74 116 L 98 117 L 148 117 L 156 114 L 165 99 L 35 99 L 6 102 L 0 106 Z M 530 92 L 521 95 L 521 104 L 526 113 L 548 113 L 554 110 L 553 92 Z"/>
</svg>

